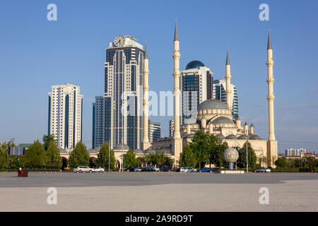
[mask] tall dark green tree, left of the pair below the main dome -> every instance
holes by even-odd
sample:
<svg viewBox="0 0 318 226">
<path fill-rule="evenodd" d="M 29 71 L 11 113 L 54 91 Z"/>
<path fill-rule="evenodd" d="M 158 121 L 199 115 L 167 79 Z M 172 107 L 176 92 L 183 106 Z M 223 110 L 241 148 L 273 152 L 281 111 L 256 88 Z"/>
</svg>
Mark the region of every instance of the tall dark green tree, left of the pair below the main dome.
<svg viewBox="0 0 318 226">
<path fill-rule="evenodd" d="M 190 143 L 190 148 L 196 156 L 196 166 L 204 167 L 210 160 L 208 135 L 203 131 L 196 131 L 192 143 Z"/>
</svg>

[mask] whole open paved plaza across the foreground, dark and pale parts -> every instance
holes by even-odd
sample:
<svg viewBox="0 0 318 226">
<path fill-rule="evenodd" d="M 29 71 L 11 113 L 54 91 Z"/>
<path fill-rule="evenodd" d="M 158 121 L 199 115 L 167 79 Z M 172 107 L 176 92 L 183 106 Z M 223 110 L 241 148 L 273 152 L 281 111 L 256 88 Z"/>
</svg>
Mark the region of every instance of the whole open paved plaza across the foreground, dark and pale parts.
<svg viewBox="0 0 318 226">
<path fill-rule="evenodd" d="M 318 174 L 1 173 L 0 211 L 318 211 Z"/>
</svg>

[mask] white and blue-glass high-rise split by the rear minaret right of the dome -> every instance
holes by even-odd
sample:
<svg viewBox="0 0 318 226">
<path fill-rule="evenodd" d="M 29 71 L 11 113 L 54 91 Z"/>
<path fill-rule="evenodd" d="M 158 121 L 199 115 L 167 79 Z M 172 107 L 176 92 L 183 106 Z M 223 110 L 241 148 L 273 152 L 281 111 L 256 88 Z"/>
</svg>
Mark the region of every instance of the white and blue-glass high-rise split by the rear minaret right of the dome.
<svg viewBox="0 0 318 226">
<path fill-rule="evenodd" d="M 236 86 L 230 84 L 230 88 L 232 92 L 230 93 L 230 97 L 232 98 L 232 115 L 235 119 L 237 119 L 239 114 L 239 105 L 238 105 L 238 95 Z M 220 79 L 213 81 L 213 99 L 221 100 L 226 102 L 226 80 Z"/>
</svg>

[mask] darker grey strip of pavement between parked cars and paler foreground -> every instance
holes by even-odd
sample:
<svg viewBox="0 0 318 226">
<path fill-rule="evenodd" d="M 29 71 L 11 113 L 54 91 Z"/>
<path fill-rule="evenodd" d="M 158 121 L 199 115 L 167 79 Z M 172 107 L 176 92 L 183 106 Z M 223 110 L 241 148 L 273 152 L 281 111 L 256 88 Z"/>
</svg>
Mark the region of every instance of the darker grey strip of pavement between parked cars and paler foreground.
<svg viewBox="0 0 318 226">
<path fill-rule="evenodd" d="M 0 188 L 71 187 L 71 186 L 145 186 L 156 184 L 277 184 L 291 180 L 317 180 L 318 174 L 293 173 L 175 173 L 175 172 L 104 172 L 38 173 L 18 178 L 17 173 L 0 174 Z"/>
</svg>

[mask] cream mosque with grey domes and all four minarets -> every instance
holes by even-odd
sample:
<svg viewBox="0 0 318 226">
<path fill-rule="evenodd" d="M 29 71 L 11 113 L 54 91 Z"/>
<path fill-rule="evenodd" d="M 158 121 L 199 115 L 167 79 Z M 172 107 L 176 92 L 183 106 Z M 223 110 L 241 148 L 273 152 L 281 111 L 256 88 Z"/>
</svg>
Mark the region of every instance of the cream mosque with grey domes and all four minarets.
<svg viewBox="0 0 318 226">
<path fill-rule="evenodd" d="M 248 126 L 247 122 L 242 125 L 240 117 L 235 119 L 232 116 L 232 102 L 231 102 L 231 89 L 230 89 L 230 58 L 227 52 L 225 64 L 225 80 L 227 95 L 226 103 L 220 100 L 205 100 L 197 108 L 196 122 L 193 124 L 180 125 L 180 70 L 179 70 L 179 35 L 177 31 L 177 23 L 175 24 L 175 38 L 174 38 L 174 119 L 175 126 L 173 136 L 171 138 L 161 138 L 159 141 L 149 143 L 148 141 L 148 53 L 146 49 L 146 57 L 144 59 L 144 85 L 143 85 L 143 107 L 144 107 L 144 136 L 143 136 L 143 151 L 137 151 L 136 155 L 143 155 L 144 153 L 166 153 L 171 155 L 174 159 L 174 165 L 178 165 L 179 156 L 185 145 L 192 142 L 194 133 L 196 131 L 204 131 L 206 134 L 213 134 L 216 138 L 226 141 L 229 147 L 240 147 L 248 141 L 258 158 L 265 160 L 262 162 L 263 166 L 275 167 L 273 162 L 278 157 L 277 141 L 274 134 L 274 116 L 273 116 L 273 49 L 271 47 L 271 36 L 269 33 L 267 45 L 267 83 L 269 102 L 269 138 L 261 139 L 257 134 L 254 134 L 254 125 Z M 213 98 L 213 95 L 211 95 Z"/>
</svg>

